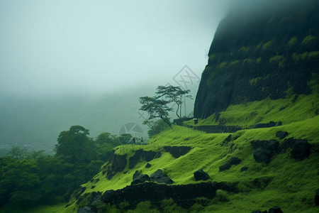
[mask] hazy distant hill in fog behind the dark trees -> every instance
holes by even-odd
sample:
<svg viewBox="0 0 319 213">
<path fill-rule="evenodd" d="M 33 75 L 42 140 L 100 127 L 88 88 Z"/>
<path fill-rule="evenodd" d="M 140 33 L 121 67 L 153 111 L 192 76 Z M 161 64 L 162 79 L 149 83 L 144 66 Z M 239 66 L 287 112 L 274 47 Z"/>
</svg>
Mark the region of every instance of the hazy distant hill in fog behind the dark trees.
<svg viewBox="0 0 319 213">
<path fill-rule="evenodd" d="M 85 96 L 45 99 L 1 99 L 0 155 L 11 146 L 52 153 L 57 136 L 73 125 L 89 129 L 95 138 L 102 132 L 118 134 L 126 123 L 142 125 L 138 109 L 141 91 L 107 94 L 99 99 Z"/>
</svg>

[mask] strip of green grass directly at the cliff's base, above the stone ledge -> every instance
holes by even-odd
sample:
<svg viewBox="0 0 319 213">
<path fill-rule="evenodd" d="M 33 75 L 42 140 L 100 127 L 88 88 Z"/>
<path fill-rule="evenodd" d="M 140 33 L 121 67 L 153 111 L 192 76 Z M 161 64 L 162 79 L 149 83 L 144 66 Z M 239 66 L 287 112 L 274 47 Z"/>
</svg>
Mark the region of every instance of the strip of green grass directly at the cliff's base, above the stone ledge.
<svg viewBox="0 0 319 213">
<path fill-rule="evenodd" d="M 246 104 L 230 105 L 225 111 L 220 113 L 220 119 L 225 119 L 225 125 L 238 126 L 250 126 L 268 123 L 269 121 L 282 121 L 283 124 L 290 124 L 315 116 L 315 110 L 318 109 L 318 99 L 318 94 L 311 94 L 299 96 L 294 104 L 292 104 L 292 98 L 289 98 L 264 99 Z M 207 119 L 199 119 L 197 125 L 217 124 L 218 121 L 215 121 L 215 114 L 213 114 Z"/>
</svg>

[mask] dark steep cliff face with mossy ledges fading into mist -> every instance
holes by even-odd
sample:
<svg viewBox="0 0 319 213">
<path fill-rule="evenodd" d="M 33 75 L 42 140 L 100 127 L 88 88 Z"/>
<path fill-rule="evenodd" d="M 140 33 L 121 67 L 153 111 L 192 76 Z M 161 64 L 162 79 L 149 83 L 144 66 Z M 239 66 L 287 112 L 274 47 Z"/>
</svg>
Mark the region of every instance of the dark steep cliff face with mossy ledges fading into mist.
<svg viewBox="0 0 319 213">
<path fill-rule="evenodd" d="M 211 44 L 195 117 L 230 104 L 309 94 L 312 73 L 319 72 L 319 1 L 259 14 L 234 11 L 220 22 Z"/>
</svg>

